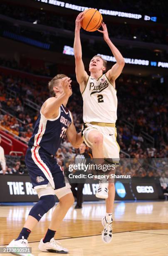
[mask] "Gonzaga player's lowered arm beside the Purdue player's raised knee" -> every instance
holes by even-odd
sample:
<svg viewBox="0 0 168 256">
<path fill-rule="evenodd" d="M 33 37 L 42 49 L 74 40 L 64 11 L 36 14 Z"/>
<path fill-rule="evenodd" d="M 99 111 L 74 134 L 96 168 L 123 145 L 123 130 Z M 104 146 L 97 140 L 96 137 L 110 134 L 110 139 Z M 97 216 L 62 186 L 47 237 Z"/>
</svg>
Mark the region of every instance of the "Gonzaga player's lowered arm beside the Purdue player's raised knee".
<svg viewBox="0 0 168 256">
<path fill-rule="evenodd" d="M 66 135 L 69 139 L 69 142 L 72 144 L 74 148 L 79 148 L 79 146 L 84 141 L 82 138 L 82 134 L 77 133 L 76 128 L 74 126 L 73 118 L 71 125 L 67 128 Z"/>
</svg>

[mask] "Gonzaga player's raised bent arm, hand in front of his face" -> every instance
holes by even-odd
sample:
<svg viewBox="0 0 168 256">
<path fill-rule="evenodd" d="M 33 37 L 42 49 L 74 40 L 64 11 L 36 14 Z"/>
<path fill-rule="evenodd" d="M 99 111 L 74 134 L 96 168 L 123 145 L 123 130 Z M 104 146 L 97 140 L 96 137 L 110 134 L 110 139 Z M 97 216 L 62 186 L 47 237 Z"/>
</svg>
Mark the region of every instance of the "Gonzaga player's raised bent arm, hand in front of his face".
<svg viewBox="0 0 168 256">
<path fill-rule="evenodd" d="M 51 97 L 44 102 L 42 106 L 42 114 L 45 118 L 56 118 L 59 114 L 59 107 L 63 104 L 64 100 L 68 100 L 68 98 L 72 95 L 71 90 L 71 82 L 72 80 L 69 77 L 62 78 L 62 93 L 57 98 L 57 90 L 59 90 L 59 84 L 53 87 L 54 92 L 56 93 L 56 97 Z"/>
</svg>

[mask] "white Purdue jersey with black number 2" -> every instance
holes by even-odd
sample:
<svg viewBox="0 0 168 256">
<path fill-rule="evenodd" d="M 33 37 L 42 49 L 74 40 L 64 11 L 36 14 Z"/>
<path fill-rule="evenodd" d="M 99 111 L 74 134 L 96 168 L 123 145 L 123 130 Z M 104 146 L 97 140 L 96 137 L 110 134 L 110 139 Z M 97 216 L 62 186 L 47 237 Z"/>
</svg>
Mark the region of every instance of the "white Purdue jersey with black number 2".
<svg viewBox="0 0 168 256">
<path fill-rule="evenodd" d="M 84 123 L 116 123 L 116 89 L 106 74 L 103 74 L 98 80 L 89 76 L 82 97 Z"/>
</svg>

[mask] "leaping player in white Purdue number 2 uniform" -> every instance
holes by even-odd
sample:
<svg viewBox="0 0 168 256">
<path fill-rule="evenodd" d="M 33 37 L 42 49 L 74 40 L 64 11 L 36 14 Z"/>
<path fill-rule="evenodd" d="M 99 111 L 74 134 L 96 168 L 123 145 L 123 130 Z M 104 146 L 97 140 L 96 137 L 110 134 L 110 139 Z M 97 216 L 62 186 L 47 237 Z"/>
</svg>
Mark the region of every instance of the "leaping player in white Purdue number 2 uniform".
<svg viewBox="0 0 168 256">
<path fill-rule="evenodd" d="M 94 56 L 89 64 L 88 76 L 82 61 L 82 46 L 80 41 L 81 21 L 84 13 L 76 19 L 74 56 L 77 82 L 83 97 L 83 138 L 85 143 L 92 148 L 94 159 L 112 159 L 114 164 L 119 162 L 119 144 L 116 141 L 117 131 L 117 96 L 115 80 L 122 72 L 124 58 L 109 38 L 107 27 L 102 23 L 104 41 L 111 49 L 116 59 L 116 64 L 106 72 L 106 61 L 101 56 Z M 112 212 L 115 197 L 114 182 L 99 182 L 96 197 L 106 199 L 106 215 L 102 218 L 104 230 L 102 239 L 109 243 L 112 239 Z"/>
</svg>

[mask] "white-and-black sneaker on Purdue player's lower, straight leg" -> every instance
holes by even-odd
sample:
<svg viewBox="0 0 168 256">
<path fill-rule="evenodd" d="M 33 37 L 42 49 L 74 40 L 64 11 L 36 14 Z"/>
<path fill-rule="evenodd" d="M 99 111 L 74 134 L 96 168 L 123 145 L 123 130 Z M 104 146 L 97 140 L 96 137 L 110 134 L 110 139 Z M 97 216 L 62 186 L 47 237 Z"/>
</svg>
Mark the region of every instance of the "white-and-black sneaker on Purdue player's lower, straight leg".
<svg viewBox="0 0 168 256">
<path fill-rule="evenodd" d="M 101 238 L 104 241 L 104 243 L 110 243 L 113 237 L 113 229 L 112 229 L 112 222 L 108 223 L 106 222 L 106 218 L 103 217 L 101 220 L 102 225 L 104 226 L 104 230 L 101 232 Z"/>
</svg>

